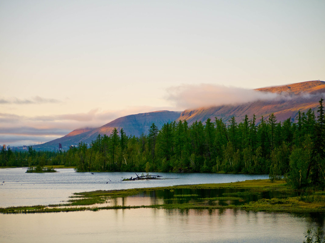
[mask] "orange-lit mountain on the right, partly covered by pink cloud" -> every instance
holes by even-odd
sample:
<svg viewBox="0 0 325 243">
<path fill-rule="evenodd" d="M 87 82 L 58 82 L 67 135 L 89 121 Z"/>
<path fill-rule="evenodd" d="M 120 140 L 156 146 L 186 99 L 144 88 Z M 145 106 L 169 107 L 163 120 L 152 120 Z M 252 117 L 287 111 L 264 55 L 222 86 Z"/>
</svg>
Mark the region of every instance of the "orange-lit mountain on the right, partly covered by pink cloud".
<svg viewBox="0 0 325 243">
<path fill-rule="evenodd" d="M 258 122 L 262 116 L 267 119 L 271 113 L 277 117 L 277 121 L 296 118 L 298 111 L 307 112 L 309 109 L 317 111 L 320 98 L 325 98 L 325 82 L 307 81 L 283 86 L 265 87 L 255 89 L 261 92 L 278 93 L 282 96 L 273 100 L 257 100 L 239 105 L 221 105 L 208 108 L 184 110 L 177 120 L 186 120 L 189 124 L 195 121 L 206 121 L 208 118 L 222 119 L 227 122 L 235 117 L 237 122 L 242 121 L 245 115 L 249 119 L 256 116 Z"/>
</svg>

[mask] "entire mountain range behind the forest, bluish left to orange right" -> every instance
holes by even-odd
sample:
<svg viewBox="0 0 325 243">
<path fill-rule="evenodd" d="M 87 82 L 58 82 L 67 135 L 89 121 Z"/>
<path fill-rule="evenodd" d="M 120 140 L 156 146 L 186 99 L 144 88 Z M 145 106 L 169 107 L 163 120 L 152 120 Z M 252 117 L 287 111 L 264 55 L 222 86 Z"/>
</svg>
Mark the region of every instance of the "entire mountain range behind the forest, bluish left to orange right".
<svg viewBox="0 0 325 243">
<path fill-rule="evenodd" d="M 153 111 L 148 113 L 139 113 L 120 117 L 98 128 L 82 128 L 73 130 L 64 137 L 52 140 L 50 142 L 35 145 L 35 149 L 53 150 L 58 148 L 59 143 L 62 147 L 78 145 L 85 142 L 89 144 L 95 140 L 98 134 L 110 135 L 114 127 L 120 131 L 123 128 L 126 135 L 140 136 L 142 133 L 147 134 L 151 124 L 154 122 L 160 129 L 164 123 L 186 120 L 189 124 L 195 121 L 206 121 L 211 118 L 222 119 L 227 122 L 231 117 L 235 117 L 237 122 L 242 121 L 245 115 L 252 119 L 253 114 L 256 116 L 258 123 L 263 116 L 267 119 L 271 113 L 277 117 L 277 121 L 284 121 L 291 118 L 292 121 L 297 117 L 298 111 L 307 112 L 309 109 L 317 111 L 320 98 L 325 98 L 325 82 L 307 81 L 296 84 L 265 87 L 255 89 L 265 93 L 277 93 L 277 98 L 272 100 L 256 100 L 237 105 L 221 105 L 208 108 L 188 109 L 183 112 L 178 111 Z"/>
</svg>

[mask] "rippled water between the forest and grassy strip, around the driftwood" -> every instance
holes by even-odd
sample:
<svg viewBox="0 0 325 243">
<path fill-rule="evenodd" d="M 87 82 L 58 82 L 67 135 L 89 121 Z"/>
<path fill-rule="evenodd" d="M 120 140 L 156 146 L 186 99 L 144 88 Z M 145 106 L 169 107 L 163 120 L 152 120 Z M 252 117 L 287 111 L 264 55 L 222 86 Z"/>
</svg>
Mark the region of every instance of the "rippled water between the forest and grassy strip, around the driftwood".
<svg viewBox="0 0 325 243">
<path fill-rule="evenodd" d="M 26 170 L 27 168 L 0 169 L 0 207 L 58 204 L 67 200 L 73 192 L 81 191 L 226 183 L 268 178 L 268 175 L 159 173 L 162 180 L 121 181 L 123 178 L 135 177 L 136 174 L 99 172 L 92 175 L 89 172 L 77 173 L 73 169 L 57 169 L 58 173 L 25 173 Z"/>
</svg>

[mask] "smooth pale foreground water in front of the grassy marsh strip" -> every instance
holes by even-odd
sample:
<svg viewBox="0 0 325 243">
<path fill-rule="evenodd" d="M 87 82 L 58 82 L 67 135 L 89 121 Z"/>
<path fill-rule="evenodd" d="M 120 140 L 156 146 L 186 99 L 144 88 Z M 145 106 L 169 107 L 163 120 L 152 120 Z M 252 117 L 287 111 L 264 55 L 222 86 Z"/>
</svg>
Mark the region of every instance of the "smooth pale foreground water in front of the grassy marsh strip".
<svg viewBox="0 0 325 243">
<path fill-rule="evenodd" d="M 321 216 L 324 218 L 324 215 Z M 126 209 L 0 215 L 2 242 L 303 242 L 314 215 Z"/>
</svg>

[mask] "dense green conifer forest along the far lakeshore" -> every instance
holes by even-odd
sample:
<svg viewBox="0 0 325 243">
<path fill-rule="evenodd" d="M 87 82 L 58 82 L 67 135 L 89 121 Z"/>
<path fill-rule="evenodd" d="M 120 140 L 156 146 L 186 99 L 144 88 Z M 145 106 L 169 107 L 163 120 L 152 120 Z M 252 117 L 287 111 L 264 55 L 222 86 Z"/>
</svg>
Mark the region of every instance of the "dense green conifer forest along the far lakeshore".
<svg viewBox="0 0 325 243">
<path fill-rule="evenodd" d="M 325 118 L 323 99 L 317 114 L 310 109 L 277 122 L 272 113 L 256 121 L 255 115 L 238 122 L 215 117 L 152 123 L 148 134 L 126 136 L 116 128 L 68 151 L 26 152 L 2 149 L 0 166 L 74 166 L 76 171 L 213 172 L 282 176 L 294 188 L 325 188 Z"/>
</svg>

